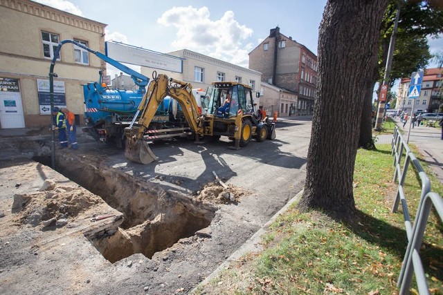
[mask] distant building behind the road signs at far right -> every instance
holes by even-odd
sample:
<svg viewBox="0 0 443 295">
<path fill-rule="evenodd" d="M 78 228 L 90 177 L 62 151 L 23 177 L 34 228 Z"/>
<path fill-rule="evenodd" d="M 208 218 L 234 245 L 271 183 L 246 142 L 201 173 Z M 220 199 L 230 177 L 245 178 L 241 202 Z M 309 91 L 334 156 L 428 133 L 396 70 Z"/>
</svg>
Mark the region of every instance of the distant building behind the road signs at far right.
<svg viewBox="0 0 443 295">
<path fill-rule="evenodd" d="M 414 109 L 414 113 L 443 113 L 442 79 L 443 68 L 426 69 L 420 95 L 411 99 L 408 97 L 410 77 L 402 78 L 395 108 L 407 113 L 410 113 L 412 109 Z"/>
</svg>

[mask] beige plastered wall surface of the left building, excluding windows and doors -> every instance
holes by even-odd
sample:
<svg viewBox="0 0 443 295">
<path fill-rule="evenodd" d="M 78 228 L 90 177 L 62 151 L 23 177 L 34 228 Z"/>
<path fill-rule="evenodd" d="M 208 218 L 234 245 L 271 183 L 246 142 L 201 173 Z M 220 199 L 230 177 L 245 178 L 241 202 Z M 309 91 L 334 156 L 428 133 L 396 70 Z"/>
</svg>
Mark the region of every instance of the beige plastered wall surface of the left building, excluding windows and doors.
<svg viewBox="0 0 443 295">
<path fill-rule="evenodd" d="M 19 79 L 26 127 L 43 126 L 49 115 L 40 115 L 37 79 L 48 79 L 51 59 L 45 58 L 42 31 L 57 34 L 59 41 L 80 39 L 89 48 L 105 51 L 105 23 L 99 23 L 28 0 L 0 0 L 0 77 Z M 83 116 L 81 84 L 98 80 L 105 63 L 89 54 L 89 65 L 75 64 L 73 44 L 62 47 L 61 60 L 55 64 L 55 80 L 63 81 L 66 105 Z M 82 120 L 81 120 L 82 123 Z"/>
</svg>

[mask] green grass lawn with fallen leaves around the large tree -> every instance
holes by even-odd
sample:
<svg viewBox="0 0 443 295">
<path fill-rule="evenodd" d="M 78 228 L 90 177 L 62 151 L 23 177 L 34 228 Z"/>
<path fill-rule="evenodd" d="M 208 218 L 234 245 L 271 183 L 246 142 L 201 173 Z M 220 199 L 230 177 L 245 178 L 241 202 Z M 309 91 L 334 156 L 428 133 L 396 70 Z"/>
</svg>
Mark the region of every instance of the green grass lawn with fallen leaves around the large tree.
<svg viewBox="0 0 443 295">
<path fill-rule="evenodd" d="M 318 211 L 300 213 L 294 204 L 262 237 L 264 251 L 230 263 L 197 294 L 398 294 L 407 238 L 401 207 L 399 213 L 390 211 L 397 192 L 392 160 L 390 144 L 359 150 L 354 171 L 356 225 Z M 422 166 L 433 191 L 443 196 L 443 185 L 424 162 Z M 413 220 L 420 184 L 412 169 L 405 191 Z M 428 220 L 421 255 L 431 294 L 443 294 L 443 225 L 435 212 Z M 417 294 L 415 288 L 414 279 L 412 294 Z"/>
</svg>

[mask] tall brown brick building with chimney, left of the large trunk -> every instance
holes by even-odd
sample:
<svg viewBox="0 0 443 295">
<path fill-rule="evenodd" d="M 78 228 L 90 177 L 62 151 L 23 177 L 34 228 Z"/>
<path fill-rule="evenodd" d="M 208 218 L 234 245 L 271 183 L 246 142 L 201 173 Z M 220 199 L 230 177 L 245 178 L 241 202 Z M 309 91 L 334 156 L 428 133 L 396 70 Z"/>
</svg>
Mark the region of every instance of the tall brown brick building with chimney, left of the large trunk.
<svg viewBox="0 0 443 295">
<path fill-rule="evenodd" d="M 296 93 L 297 115 L 312 114 L 318 64 L 316 55 L 305 46 L 281 34 L 280 28 L 273 28 L 249 53 L 249 68 L 262 73 L 262 82 Z M 284 108 L 280 113 L 285 113 Z"/>
</svg>

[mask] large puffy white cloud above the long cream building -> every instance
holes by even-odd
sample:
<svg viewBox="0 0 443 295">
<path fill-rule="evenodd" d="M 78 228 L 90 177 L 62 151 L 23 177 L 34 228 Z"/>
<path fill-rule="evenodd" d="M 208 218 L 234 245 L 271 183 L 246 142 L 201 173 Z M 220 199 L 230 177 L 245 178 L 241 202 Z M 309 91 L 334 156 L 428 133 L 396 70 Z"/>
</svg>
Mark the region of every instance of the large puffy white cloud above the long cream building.
<svg viewBox="0 0 443 295">
<path fill-rule="evenodd" d="M 248 51 L 253 46 L 245 42 L 253 30 L 240 25 L 231 10 L 213 21 L 207 7 L 174 7 L 165 11 L 157 23 L 178 29 L 177 39 L 171 44 L 175 49 L 186 48 L 239 66 L 248 66 Z"/>
</svg>

